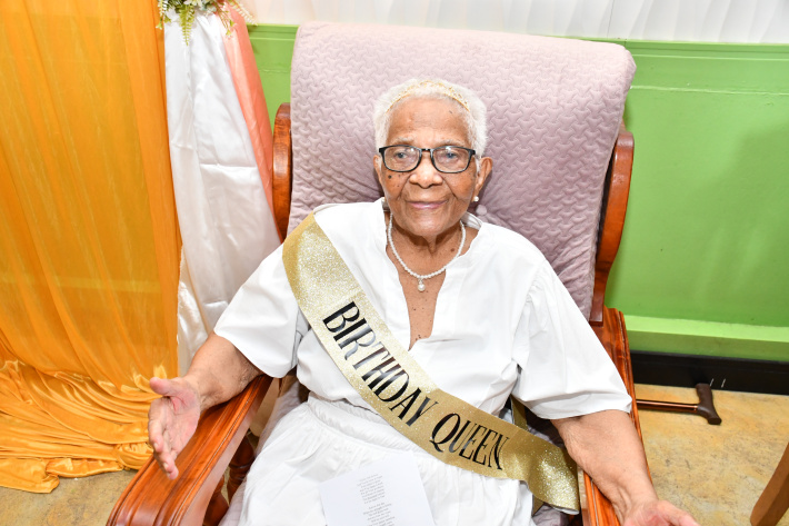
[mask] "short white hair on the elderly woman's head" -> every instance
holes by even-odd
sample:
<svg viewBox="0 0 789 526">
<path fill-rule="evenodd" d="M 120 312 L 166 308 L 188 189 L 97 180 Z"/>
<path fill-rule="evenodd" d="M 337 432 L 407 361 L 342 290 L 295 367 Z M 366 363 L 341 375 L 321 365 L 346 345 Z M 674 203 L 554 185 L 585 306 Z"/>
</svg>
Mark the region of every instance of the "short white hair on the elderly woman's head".
<svg viewBox="0 0 789 526">
<path fill-rule="evenodd" d="M 471 148 L 478 158 L 482 157 L 488 142 L 488 109 L 485 102 L 470 89 L 440 79 L 407 80 L 378 98 L 372 110 L 376 149 L 387 146 L 392 110 L 410 98 L 451 100 L 462 107 Z"/>
</svg>

